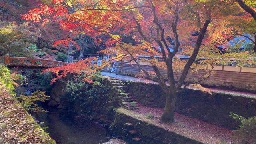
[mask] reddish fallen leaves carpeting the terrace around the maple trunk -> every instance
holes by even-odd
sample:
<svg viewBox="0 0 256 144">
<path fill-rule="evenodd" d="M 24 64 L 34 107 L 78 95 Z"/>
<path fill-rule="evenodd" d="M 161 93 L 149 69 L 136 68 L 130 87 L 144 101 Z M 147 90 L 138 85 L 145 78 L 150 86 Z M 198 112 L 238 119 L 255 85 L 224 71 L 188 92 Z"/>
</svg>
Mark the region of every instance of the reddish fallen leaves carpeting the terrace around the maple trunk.
<svg viewBox="0 0 256 144">
<path fill-rule="evenodd" d="M 198 140 L 205 144 L 223 144 L 223 142 L 227 142 L 227 144 L 236 144 L 232 139 L 232 130 L 178 113 L 175 113 L 174 123 L 160 122 L 160 116 L 162 115 L 164 108 L 146 107 L 139 103 L 137 106 L 138 109 L 136 110 L 128 111 L 122 108 L 119 110 L 126 115 L 146 121 L 182 136 Z M 146 118 L 146 115 L 149 113 L 154 115 L 154 119 Z"/>
</svg>

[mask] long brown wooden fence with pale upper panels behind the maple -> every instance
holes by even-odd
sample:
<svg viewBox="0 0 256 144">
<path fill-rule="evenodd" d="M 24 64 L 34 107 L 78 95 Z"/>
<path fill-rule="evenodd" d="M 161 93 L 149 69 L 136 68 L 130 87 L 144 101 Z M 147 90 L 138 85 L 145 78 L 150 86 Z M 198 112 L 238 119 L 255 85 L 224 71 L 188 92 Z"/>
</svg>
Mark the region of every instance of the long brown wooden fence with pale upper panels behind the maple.
<svg viewBox="0 0 256 144">
<path fill-rule="evenodd" d="M 153 71 L 152 66 L 147 62 L 140 62 L 140 67 L 147 71 Z M 240 90 L 246 92 L 256 92 L 256 68 L 233 67 L 233 66 L 214 66 L 214 74 L 206 80 L 200 82 L 204 86 L 224 88 L 229 90 Z M 121 73 L 134 76 L 140 72 L 136 64 L 123 64 Z M 166 70 L 160 70 L 163 75 L 167 75 Z M 196 82 L 202 79 L 206 72 L 199 70 L 198 73 L 189 72 L 186 82 Z M 174 73 L 175 80 L 181 76 L 180 73 Z"/>
</svg>

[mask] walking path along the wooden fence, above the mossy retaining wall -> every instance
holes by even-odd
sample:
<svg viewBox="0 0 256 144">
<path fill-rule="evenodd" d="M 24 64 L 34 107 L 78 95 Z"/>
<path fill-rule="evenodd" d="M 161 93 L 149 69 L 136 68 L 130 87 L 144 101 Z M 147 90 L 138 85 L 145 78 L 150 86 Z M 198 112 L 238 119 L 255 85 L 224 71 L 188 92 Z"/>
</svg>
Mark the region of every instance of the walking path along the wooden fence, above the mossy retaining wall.
<svg viewBox="0 0 256 144">
<path fill-rule="evenodd" d="M 145 79 L 141 79 L 141 78 L 134 78 L 134 77 L 131 77 L 131 76 L 116 75 L 114 73 L 108 73 L 108 72 L 101 72 L 101 75 L 109 76 L 109 77 L 113 77 L 113 78 L 118 78 L 120 80 L 131 80 L 131 81 L 135 81 L 135 82 L 145 82 L 145 83 L 158 84 L 157 82 L 153 82 L 152 80 L 145 80 Z M 188 86 L 187 88 L 195 89 L 192 86 Z M 245 96 L 245 97 L 256 98 L 256 94 L 250 93 L 250 92 L 239 92 L 239 91 L 234 91 L 234 90 L 224 90 L 224 89 L 220 89 L 220 88 L 208 88 L 208 89 L 211 90 L 211 92 L 214 92 L 214 93 L 241 95 L 241 96 Z"/>
</svg>

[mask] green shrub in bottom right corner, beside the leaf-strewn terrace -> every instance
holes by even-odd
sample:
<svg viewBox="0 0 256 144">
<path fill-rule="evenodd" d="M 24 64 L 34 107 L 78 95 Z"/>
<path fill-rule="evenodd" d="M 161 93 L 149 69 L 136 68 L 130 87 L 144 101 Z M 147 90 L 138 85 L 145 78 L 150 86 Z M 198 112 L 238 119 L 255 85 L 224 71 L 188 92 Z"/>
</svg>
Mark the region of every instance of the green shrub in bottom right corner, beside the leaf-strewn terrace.
<svg viewBox="0 0 256 144">
<path fill-rule="evenodd" d="M 242 144 L 256 144 L 256 116 L 244 118 L 230 112 L 230 116 L 241 121 L 241 125 L 234 131 L 233 138 Z"/>
</svg>

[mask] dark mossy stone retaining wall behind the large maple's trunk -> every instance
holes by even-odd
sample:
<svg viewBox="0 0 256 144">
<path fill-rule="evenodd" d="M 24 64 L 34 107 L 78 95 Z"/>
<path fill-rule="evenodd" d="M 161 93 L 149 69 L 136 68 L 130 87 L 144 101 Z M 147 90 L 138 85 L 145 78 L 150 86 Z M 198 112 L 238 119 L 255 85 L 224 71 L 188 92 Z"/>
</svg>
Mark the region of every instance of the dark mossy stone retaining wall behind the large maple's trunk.
<svg viewBox="0 0 256 144">
<path fill-rule="evenodd" d="M 142 82 L 126 82 L 128 92 L 144 106 L 164 107 L 166 96 L 160 85 Z M 179 94 L 176 112 L 223 126 L 236 129 L 240 122 L 229 116 L 234 112 L 246 118 L 256 116 L 256 98 L 231 94 L 208 94 L 200 90 L 186 89 Z"/>
</svg>

